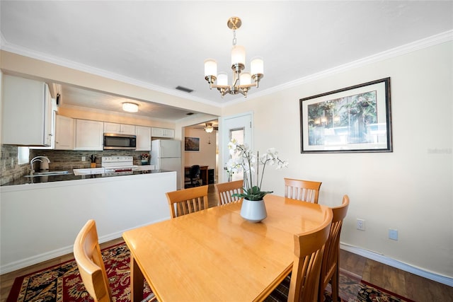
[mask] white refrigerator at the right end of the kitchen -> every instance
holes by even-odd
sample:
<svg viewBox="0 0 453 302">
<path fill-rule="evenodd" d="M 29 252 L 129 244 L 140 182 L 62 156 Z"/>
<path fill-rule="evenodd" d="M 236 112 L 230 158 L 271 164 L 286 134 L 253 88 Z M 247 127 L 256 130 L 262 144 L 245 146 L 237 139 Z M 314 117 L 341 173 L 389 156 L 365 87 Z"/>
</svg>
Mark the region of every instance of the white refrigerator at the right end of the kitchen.
<svg viewBox="0 0 453 302">
<path fill-rule="evenodd" d="M 156 170 L 176 171 L 176 187 L 181 187 L 181 141 L 176 139 L 155 139 L 151 141 L 151 165 Z"/>
</svg>

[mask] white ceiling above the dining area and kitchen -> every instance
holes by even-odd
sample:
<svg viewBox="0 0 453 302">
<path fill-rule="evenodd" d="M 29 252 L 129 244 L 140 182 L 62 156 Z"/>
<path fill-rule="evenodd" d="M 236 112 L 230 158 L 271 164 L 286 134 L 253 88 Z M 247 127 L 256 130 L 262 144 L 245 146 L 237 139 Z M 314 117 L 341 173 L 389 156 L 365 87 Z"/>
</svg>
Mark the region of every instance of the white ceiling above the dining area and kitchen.
<svg viewBox="0 0 453 302">
<path fill-rule="evenodd" d="M 263 57 L 265 75 L 248 98 L 453 28 L 453 1 L 4 1 L 1 49 L 120 79 L 190 100 L 223 105 L 203 62 L 229 73 L 233 34 Z M 193 89 L 192 93 L 176 86 Z M 117 96 L 62 87 L 62 104 L 121 112 Z M 139 115 L 164 120 L 187 110 L 142 102 Z"/>
</svg>

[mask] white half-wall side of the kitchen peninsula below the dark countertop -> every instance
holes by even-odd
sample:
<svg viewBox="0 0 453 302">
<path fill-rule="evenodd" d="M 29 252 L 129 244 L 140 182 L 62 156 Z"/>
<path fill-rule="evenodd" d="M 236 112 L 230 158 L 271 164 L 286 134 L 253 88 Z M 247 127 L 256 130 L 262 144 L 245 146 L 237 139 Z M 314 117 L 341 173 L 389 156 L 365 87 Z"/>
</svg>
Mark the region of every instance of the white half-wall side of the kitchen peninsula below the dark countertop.
<svg viewBox="0 0 453 302">
<path fill-rule="evenodd" d="M 1 274 L 70 253 L 88 219 L 105 242 L 170 218 L 165 193 L 176 190 L 175 171 L 55 177 L 78 179 L 0 187 Z"/>
</svg>

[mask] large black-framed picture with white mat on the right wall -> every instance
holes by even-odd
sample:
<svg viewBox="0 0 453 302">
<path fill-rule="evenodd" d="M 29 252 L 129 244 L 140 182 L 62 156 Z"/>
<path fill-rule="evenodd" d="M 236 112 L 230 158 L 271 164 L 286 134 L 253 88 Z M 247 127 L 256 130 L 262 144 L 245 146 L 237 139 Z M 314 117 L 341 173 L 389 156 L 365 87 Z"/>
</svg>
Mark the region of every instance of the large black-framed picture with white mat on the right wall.
<svg viewBox="0 0 453 302">
<path fill-rule="evenodd" d="M 390 78 L 300 99 L 301 153 L 392 152 Z"/>
</svg>

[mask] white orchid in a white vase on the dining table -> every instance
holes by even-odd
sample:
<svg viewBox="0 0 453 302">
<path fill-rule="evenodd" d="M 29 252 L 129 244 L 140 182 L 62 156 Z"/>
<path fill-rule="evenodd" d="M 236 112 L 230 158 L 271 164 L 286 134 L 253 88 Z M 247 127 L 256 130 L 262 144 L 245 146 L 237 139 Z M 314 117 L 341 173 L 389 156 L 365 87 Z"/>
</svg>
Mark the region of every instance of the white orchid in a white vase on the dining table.
<svg viewBox="0 0 453 302">
<path fill-rule="evenodd" d="M 278 151 L 270 148 L 260 156 L 256 155 L 247 145 L 238 144 L 236 139 L 231 139 L 228 144 L 232 158 L 226 163 L 229 175 L 243 172 L 243 192 L 233 194 L 233 197 L 243 197 L 241 216 L 251 222 L 259 222 L 267 217 L 263 197 L 273 191 L 261 190 L 266 165 L 276 165 L 277 169 L 287 167 L 288 162 L 278 157 Z M 237 156 L 236 156 L 237 155 Z M 263 167 L 260 171 L 260 165 Z"/>
</svg>

